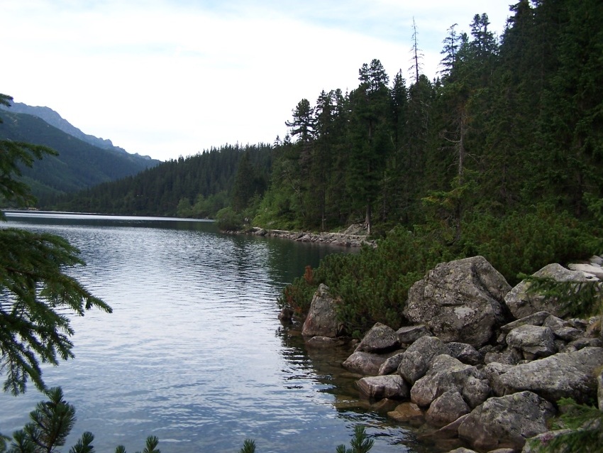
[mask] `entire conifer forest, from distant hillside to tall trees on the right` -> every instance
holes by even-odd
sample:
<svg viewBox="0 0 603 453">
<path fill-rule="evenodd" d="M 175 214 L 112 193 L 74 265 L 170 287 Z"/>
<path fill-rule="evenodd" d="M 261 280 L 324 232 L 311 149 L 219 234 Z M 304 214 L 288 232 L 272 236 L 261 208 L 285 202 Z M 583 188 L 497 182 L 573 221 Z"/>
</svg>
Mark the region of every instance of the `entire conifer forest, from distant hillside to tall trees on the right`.
<svg viewBox="0 0 603 453">
<path fill-rule="evenodd" d="M 271 145 L 224 146 L 79 194 L 64 209 L 215 217 L 281 229 L 429 222 L 449 241 L 479 216 L 546 204 L 592 219 L 603 189 L 603 6 L 522 0 L 501 38 L 486 14 L 450 26 L 441 72 L 379 60 L 358 87 L 302 99 Z M 549 209 L 549 208 L 547 208 Z M 225 212 L 222 213 L 223 217 Z"/>
</svg>

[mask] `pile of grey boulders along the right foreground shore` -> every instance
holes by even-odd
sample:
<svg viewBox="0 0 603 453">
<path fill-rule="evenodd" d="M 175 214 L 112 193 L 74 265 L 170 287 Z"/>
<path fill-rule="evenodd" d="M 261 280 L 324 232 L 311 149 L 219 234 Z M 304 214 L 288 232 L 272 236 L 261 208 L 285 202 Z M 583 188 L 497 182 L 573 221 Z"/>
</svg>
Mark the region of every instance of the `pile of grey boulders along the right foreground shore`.
<svg viewBox="0 0 603 453">
<path fill-rule="evenodd" d="M 602 263 L 534 275 L 598 284 Z M 441 263 L 409 290 L 408 325 L 375 324 L 342 366 L 361 395 L 451 453 L 532 452 L 527 440 L 563 432 L 549 430 L 560 398 L 603 409 L 603 333 L 601 317 L 569 318 L 529 285 L 511 288 L 482 256 Z M 335 304 L 321 285 L 302 329 L 309 348 L 345 344 Z"/>
</svg>

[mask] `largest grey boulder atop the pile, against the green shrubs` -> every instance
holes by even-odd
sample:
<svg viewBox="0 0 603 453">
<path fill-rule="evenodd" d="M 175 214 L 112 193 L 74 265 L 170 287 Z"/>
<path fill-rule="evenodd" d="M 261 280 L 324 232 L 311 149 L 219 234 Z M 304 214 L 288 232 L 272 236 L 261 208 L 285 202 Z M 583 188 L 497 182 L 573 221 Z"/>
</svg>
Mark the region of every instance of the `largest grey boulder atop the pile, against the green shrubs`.
<svg viewBox="0 0 603 453">
<path fill-rule="evenodd" d="M 404 315 L 443 342 L 480 347 L 505 323 L 509 283 L 483 256 L 441 263 L 412 285 Z"/>
</svg>

